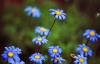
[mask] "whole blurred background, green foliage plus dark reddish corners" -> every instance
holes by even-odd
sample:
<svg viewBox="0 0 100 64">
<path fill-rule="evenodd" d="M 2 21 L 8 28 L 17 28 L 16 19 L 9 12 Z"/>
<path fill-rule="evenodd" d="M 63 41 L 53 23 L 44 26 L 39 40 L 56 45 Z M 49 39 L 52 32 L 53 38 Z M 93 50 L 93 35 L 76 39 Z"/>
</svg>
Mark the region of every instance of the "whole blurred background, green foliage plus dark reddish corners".
<svg viewBox="0 0 100 64">
<path fill-rule="evenodd" d="M 36 6 L 42 15 L 40 18 L 32 18 L 24 12 L 26 6 Z M 43 64 L 51 64 L 48 56 L 48 47 L 59 45 L 63 52 L 61 56 L 66 59 L 63 64 L 73 64 L 70 58 L 79 44 L 85 43 L 82 36 L 84 30 L 89 29 L 96 14 L 100 13 L 100 0 L 0 0 L 0 55 L 6 46 L 16 46 L 22 49 L 21 60 L 29 64 L 29 56 L 35 53 L 36 45 L 32 43 L 32 38 L 37 37 L 34 33 L 36 26 L 50 28 L 54 17 L 49 15 L 49 9 L 63 9 L 67 14 L 64 21 L 57 20 L 48 43 L 44 44 L 40 50 L 46 57 Z M 97 18 L 94 29 L 100 34 L 100 17 Z M 100 42 L 89 43 L 93 50 L 93 56 L 88 57 L 88 64 L 100 64 Z M 0 64 L 5 64 L 0 57 Z"/>
</svg>

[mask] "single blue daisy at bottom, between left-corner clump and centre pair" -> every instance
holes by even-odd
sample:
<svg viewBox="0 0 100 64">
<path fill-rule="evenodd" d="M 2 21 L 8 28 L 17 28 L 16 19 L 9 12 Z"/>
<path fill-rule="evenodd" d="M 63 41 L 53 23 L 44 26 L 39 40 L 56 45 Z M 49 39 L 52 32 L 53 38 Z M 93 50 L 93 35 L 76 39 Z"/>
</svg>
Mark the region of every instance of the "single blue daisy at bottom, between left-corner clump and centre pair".
<svg viewBox="0 0 100 64">
<path fill-rule="evenodd" d="M 40 54 L 40 53 L 35 53 L 35 54 L 32 54 L 30 57 L 29 57 L 30 61 L 33 61 L 35 62 L 36 64 L 42 64 L 42 61 L 45 61 L 45 57 Z"/>
</svg>

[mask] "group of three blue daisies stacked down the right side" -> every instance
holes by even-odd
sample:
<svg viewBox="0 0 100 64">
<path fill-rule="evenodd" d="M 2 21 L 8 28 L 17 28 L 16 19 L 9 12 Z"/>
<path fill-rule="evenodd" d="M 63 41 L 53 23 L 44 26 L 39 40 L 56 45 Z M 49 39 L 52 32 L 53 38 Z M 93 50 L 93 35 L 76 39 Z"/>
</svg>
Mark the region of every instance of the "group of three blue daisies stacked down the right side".
<svg viewBox="0 0 100 64">
<path fill-rule="evenodd" d="M 100 35 L 93 29 L 85 30 L 83 36 L 87 38 L 86 44 L 88 41 L 97 42 L 100 38 Z M 92 56 L 93 52 L 88 46 L 86 46 L 86 44 L 79 45 L 76 49 L 78 55 L 73 57 L 75 59 L 74 64 L 87 64 L 87 56 Z"/>
</svg>

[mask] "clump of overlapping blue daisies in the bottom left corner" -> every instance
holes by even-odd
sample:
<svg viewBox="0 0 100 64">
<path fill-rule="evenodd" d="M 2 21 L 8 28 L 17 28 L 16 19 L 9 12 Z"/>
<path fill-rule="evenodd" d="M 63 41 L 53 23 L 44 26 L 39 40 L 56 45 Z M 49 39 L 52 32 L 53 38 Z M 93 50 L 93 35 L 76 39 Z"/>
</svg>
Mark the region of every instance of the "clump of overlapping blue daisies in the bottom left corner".
<svg viewBox="0 0 100 64">
<path fill-rule="evenodd" d="M 21 54 L 20 48 L 15 48 L 14 46 L 5 47 L 5 51 L 1 54 L 3 60 L 8 60 L 8 63 L 11 64 L 25 64 L 23 61 L 20 60 L 19 54 Z"/>
</svg>

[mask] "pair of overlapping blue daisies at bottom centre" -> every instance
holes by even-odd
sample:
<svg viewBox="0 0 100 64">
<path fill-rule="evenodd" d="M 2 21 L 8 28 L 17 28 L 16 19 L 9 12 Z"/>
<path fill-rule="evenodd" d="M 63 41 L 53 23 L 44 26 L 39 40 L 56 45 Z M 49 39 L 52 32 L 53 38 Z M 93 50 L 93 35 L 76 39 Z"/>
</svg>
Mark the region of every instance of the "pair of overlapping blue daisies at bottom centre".
<svg viewBox="0 0 100 64">
<path fill-rule="evenodd" d="M 51 57 L 51 61 L 54 63 L 62 64 L 62 61 L 66 61 L 63 59 L 60 54 L 62 53 L 62 49 L 59 46 L 50 46 L 48 49 L 49 55 Z"/>
</svg>

